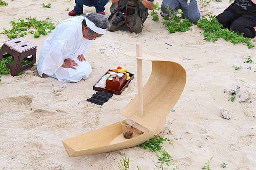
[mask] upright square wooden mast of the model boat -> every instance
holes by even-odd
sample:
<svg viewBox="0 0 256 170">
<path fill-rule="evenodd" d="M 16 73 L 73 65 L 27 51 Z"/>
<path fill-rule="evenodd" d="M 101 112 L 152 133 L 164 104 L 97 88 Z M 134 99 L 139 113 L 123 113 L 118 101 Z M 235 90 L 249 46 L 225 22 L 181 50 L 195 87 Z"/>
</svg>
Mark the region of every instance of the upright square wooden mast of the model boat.
<svg viewBox="0 0 256 170">
<path fill-rule="evenodd" d="M 141 43 L 136 44 L 136 56 L 142 57 Z M 142 59 L 137 58 L 137 84 L 138 84 L 138 111 L 143 116 L 143 92 L 142 92 Z"/>
</svg>

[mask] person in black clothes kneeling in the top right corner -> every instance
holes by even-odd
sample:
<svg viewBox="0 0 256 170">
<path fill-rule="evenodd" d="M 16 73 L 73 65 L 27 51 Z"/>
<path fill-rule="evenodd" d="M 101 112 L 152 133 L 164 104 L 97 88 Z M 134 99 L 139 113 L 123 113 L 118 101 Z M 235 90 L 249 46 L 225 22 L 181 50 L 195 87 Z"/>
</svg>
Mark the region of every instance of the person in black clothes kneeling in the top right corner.
<svg viewBox="0 0 256 170">
<path fill-rule="evenodd" d="M 256 36 L 256 0 L 235 0 L 216 18 L 224 28 L 243 33 L 246 38 Z"/>
</svg>

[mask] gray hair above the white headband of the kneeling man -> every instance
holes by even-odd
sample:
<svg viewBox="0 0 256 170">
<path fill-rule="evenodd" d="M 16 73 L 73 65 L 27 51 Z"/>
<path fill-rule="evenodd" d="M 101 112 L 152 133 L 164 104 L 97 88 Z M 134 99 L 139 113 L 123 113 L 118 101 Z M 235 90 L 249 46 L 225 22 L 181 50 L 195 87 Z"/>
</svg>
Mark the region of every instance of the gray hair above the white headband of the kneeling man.
<svg viewBox="0 0 256 170">
<path fill-rule="evenodd" d="M 96 27 L 106 29 L 110 26 L 108 22 L 108 18 L 102 14 L 92 13 L 92 14 L 86 15 L 86 18 L 88 18 L 88 20 L 93 22 L 96 25 Z"/>
</svg>

